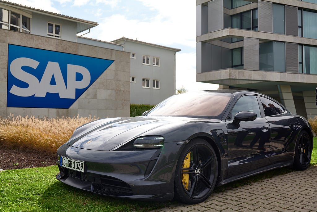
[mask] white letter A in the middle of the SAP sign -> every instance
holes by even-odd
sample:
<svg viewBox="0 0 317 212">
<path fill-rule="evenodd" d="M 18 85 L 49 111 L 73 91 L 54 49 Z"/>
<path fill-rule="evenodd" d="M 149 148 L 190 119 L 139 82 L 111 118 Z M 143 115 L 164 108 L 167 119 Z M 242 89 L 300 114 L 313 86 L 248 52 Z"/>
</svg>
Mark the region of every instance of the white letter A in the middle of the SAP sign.
<svg viewBox="0 0 317 212">
<path fill-rule="evenodd" d="M 50 84 L 53 76 L 56 85 Z M 60 98 L 65 98 L 63 97 L 63 94 L 66 93 L 66 86 L 63 76 L 61 75 L 60 66 L 56 62 L 48 62 L 35 96 L 45 97 L 47 92 L 58 93 Z"/>
</svg>

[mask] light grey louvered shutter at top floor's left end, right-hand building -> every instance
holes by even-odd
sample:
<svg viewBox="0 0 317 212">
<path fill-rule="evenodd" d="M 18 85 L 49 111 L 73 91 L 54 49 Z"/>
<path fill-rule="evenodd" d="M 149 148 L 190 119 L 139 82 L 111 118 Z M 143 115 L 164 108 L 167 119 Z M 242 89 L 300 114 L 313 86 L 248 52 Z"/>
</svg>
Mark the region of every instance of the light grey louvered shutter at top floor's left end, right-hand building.
<svg viewBox="0 0 317 212">
<path fill-rule="evenodd" d="M 208 2 L 208 32 L 223 29 L 223 0 Z"/>
</svg>

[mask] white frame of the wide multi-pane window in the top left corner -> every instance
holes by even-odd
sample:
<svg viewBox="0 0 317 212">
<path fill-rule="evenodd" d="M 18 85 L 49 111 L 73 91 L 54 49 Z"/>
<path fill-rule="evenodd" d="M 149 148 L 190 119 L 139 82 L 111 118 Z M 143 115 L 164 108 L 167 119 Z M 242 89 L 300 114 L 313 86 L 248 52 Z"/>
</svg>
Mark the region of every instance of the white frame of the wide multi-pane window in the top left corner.
<svg viewBox="0 0 317 212">
<path fill-rule="evenodd" d="M 30 14 L 27 14 L 27 13 L 25 13 L 25 12 L 23 12 L 23 11 L 20 11 L 20 10 L 17 10 L 17 9 L 15 9 L 15 8 L 11 8 L 11 7 L 1 6 L 1 9 L 9 11 L 9 13 L 8 13 L 8 23 L 5 23 L 5 22 L 0 21 L 1 24 L 6 25 L 6 26 L 8 27 L 7 30 L 11 30 L 11 26 L 12 26 L 12 27 L 18 28 L 18 29 L 19 29 L 19 30 L 18 30 L 19 32 L 24 32 L 24 33 L 29 33 L 29 34 L 31 33 L 31 24 L 32 24 L 32 21 L 31 21 L 31 20 L 32 20 L 32 16 L 31 16 Z M 20 18 L 19 18 L 19 26 L 14 25 L 14 24 L 11 24 L 11 12 L 14 12 L 14 13 L 20 15 Z M 23 28 L 23 27 L 22 27 L 22 19 L 23 19 L 23 16 L 30 19 L 30 26 L 29 26 L 30 29 L 26 29 L 26 28 Z M 3 28 L 2 28 L 2 29 L 3 29 Z M 12 30 L 12 31 L 15 31 L 15 30 Z"/>
</svg>

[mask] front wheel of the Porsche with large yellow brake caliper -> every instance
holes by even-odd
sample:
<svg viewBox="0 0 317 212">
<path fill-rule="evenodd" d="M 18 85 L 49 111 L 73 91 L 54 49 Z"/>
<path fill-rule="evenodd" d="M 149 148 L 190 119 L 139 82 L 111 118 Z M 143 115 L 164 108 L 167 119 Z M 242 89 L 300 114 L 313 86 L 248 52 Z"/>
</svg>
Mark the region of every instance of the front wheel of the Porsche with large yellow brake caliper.
<svg viewBox="0 0 317 212">
<path fill-rule="evenodd" d="M 187 204 L 203 202 L 215 188 L 217 176 L 218 161 L 214 149 L 203 139 L 191 140 L 177 162 L 175 199 Z"/>
</svg>

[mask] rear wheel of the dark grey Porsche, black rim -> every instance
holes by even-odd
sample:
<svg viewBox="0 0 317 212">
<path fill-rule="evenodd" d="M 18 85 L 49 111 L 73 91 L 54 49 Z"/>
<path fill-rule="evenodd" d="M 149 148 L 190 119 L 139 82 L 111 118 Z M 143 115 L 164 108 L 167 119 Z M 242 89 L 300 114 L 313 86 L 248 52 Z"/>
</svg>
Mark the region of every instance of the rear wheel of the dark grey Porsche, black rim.
<svg viewBox="0 0 317 212">
<path fill-rule="evenodd" d="M 295 145 L 295 156 L 293 168 L 305 170 L 309 166 L 312 156 L 312 142 L 306 131 L 301 131 Z"/>
</svg>

